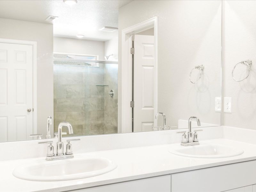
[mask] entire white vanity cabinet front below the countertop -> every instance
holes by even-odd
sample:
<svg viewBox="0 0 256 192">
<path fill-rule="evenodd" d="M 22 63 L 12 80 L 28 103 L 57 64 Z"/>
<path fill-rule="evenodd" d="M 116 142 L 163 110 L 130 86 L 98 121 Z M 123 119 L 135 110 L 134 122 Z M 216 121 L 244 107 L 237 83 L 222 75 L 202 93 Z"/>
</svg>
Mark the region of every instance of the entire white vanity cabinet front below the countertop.
<svg viewBox="0 0 256 192">
<path fill-rule="evenodd" d="M 255 184 L 256 160 L 72 191 L 256 192 Z"/>
</svg>

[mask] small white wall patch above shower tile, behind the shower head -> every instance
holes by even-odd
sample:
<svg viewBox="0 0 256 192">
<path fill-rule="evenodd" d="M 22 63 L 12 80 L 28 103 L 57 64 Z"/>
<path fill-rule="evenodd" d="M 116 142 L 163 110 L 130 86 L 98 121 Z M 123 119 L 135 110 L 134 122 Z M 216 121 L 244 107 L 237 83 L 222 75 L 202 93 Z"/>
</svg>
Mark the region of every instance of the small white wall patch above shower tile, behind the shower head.
<svg viewBox="0 0 256 192">
<path fill-rule="evenodd" d="M 108 60 L 118 61 L 118 37 L 104 42 L 105 56 L 113 54 Z"/>
</svg>

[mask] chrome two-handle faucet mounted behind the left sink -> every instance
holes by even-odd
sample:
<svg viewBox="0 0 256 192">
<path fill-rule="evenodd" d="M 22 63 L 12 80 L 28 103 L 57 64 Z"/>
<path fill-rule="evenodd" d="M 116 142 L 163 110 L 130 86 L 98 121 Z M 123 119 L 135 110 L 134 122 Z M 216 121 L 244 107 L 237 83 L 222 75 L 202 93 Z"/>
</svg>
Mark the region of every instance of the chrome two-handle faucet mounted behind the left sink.
<svg viewBox="0 0 256 192">
<path fill-rule="evenodd" d="M 57 152 L 54 154 L 53 146 L 52 143 L 53 141 L 44 141 L 44 142 L 38 142 L 38 144 L 49 144 L 47 147 L 47 155 L 46 155 L 46 160 L 47 161 L 52 161 L 52 160 L 57 160 L 57 159 L 69 159 L 73 158 L 73 151 L 72 151 L 72 145 L 70 141 L 76 141 L 80 139 L 70 139 L 67 140 L 68 144 L 66 145 L 66 153 L 64 154 L 63 151 L 63 142 L 62 142 L 62 137 L 61 135 L 64 134 L 62 132 L 62 127 L 67 126 L 68 127 L 68 132 L 69 134 L 73 134 L 73 128 L 70 123 L 68 122 L 61 122 L 58 126 L 58 142 L 57 142 Z M 66 133 L 67 134 L 67 133 Z"/>
</svg>

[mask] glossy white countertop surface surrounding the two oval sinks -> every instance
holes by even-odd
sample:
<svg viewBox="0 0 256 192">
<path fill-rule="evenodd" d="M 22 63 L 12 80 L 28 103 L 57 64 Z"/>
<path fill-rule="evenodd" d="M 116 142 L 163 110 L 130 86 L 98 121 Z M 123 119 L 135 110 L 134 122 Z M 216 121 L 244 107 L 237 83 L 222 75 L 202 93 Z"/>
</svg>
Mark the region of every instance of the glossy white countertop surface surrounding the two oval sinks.
<svg viewBox="0 0 256 192">
<path fill-rule="evenodd" d="M 113 160 L 118 166 L 115 170 L 102 175 L 67 181 L 29 181 L 18 179 L 12 175 L 16 166 L 29 162 L 45 161 L 45 158 L 42 157 L 2 161 L 0 162 L 0 191 L 67 191 L 256 160 L 256 145 L 254 144 L 227 139 L 203 140 L 200 143 L 232 145 L 242 148 L 244 153 L 226 158 L 192 158 L 177 156 L 168 152 L 169 148 L 180 145 L 180 143 L 80 153 L 75 154 L 75 158 L 78 156 L 105 157 Z"/>
</svg>

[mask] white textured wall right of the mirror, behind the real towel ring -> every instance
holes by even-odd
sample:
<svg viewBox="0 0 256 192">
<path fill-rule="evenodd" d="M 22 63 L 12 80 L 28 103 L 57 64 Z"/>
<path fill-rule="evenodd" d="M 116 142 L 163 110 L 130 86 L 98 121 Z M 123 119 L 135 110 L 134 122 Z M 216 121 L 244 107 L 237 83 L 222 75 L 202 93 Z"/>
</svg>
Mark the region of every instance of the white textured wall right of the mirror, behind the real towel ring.
<svg viewBox="0 0 256 192">
<path fill-rule="evenodd" d="M 256 129 L 256 1 L 225 1 L 223 96 L 232 97 L 232 113 L 224 125 Z M 250 76 L 235 82 L 231 72 L 242 60 L 252 60 Z"/>
</svg>

